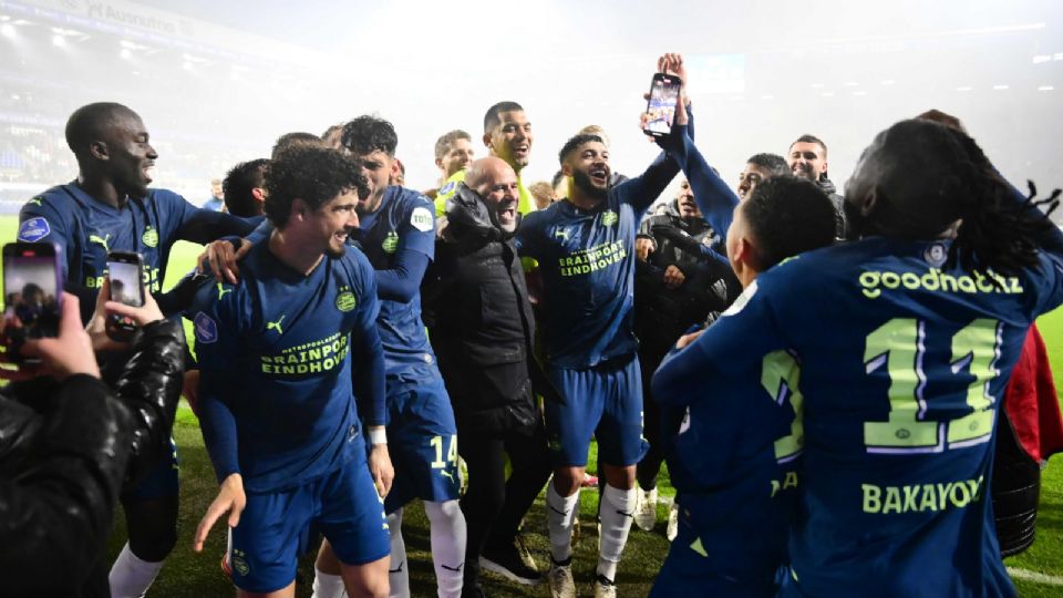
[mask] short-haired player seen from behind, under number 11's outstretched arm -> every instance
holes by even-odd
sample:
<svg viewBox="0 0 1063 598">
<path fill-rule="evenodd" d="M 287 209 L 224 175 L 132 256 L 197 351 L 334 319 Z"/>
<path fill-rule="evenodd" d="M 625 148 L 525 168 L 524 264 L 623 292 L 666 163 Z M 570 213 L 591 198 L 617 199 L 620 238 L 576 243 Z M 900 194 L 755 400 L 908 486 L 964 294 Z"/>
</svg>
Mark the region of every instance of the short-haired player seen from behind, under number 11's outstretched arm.
<svg viewBox="0 0 1063 598">
<path fill-rule="evenodd" d="M 803 178 L 760 183 L 727 230 L 743 286 L 787 257 L 830 245 L 834 214 L 826 194 Z M 685 416 L 669 460 L 682 516 L 651 596 L 774 596 L 802 448 L 797 367 L 783 351 L 745 378 L 691 370 L 702 365 L 698 349 L 688 349 L 670 354 L 653 378 L 656 401 Z"/>
</svg>

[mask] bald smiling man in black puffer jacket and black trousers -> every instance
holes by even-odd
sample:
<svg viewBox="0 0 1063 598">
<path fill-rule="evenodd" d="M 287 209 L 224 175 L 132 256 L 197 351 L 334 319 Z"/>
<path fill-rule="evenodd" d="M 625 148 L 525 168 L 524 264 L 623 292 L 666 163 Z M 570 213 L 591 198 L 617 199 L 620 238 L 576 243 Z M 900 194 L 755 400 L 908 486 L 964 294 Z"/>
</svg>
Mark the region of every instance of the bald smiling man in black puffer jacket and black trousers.
<svg viewBox="0 0 1063 598">
<path fill-rule="evenodd" d="M 533 375 L 539 385 L 530 354 L 535 321 L 513 244 L 516 208 L 513 168 L 496 157 L 474 162 L 447 200 L 422 293 L 454 404 L 458 453 L 468 466 L 462 511 L 468 527 L 465 590 L 472 596 L 479 591 L 481 563 L 522 582 L 538 581 L 516 543 L 520 519 L 549 476 L 532 392 Z M 508 482 L 506 453 L 513 470 Z"/>
</svg>

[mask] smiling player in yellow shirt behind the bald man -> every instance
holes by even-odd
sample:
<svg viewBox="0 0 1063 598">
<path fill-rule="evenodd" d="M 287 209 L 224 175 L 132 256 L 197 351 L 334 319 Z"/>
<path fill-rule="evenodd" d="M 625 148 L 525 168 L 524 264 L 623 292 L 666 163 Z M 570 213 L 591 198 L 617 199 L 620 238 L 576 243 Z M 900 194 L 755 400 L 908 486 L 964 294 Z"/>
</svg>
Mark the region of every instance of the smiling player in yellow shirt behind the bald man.
<svg viewBox="0 0 1063 598">
<path fill-rule="evenodd" d="M 487 109 L 484 114 L 484 145 L 487 155 L 500 157 L 517 173 L 517 190 L 519 199 L 517 210 L 527 214 L 534 209 L 532 194 L 520 182 L 520 173 L 528 165 L 532 156 L 532 122 L 528 121 L 524 107 L 516 102 L 498 102 Z M 465 171 L 458 171 L 440 188 L 435 197 L 435 215 L 442 216 L 446 209 L 446 200 L 457 190 L 457 184 L 465 181 Z"/>
</svg>

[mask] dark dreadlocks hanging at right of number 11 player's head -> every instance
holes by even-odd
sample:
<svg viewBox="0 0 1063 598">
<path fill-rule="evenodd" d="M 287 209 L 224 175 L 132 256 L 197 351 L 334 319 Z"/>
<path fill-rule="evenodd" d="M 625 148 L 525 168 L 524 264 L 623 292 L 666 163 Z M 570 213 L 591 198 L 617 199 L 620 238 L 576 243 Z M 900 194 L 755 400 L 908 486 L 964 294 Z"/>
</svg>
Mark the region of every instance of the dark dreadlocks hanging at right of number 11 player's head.
<svg viewBox="0 0 1063 598">
<path fill-rule="evenodd" d="M 948 130 L 960 145 L 960 159 L 953 174 L 960 184 L 960 217 L 948 265 L 967 265 L 973 270 L 993 270 L 1013 276 L 1038 262 L 1038 252 L 1054 231 L 1049 215 L 1059 207 L 1061 189 L 1036 199 L 1032 181 L 1030 194 L 1018 202 L 1018 189 L 1008 184 L 982 153 L 982 148 L 961 131 Z M 1042 206 L 1045 207 L 1042 212 Z"/>
</svg>

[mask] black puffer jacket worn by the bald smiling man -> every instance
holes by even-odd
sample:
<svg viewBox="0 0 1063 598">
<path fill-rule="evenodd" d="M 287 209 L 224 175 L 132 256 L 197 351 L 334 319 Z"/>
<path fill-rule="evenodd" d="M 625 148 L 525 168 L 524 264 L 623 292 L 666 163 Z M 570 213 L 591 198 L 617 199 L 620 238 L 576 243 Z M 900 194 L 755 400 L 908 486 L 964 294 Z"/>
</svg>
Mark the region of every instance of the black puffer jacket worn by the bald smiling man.
<svg viewBox="0 0 1063 598">
<path fill-rule="evenodd" d="M 530 379 L 539 385 L 530 358 L 535 319 L 513 234 L 464 184 L 447 200 L 446 217 L 421 299 L 454 414 L 458 425 L 529 425 Z"/>
</svg>

